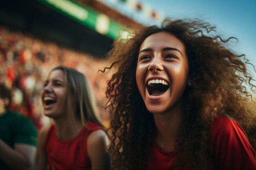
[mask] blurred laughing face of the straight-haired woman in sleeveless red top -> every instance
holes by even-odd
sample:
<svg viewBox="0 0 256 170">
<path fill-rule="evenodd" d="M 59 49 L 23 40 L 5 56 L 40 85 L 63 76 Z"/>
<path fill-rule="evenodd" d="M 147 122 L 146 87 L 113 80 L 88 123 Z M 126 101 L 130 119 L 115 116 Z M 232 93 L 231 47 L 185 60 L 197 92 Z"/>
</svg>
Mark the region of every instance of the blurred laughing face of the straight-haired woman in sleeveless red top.
<svg viewBox="0 0 256 170">
<path fill-rule="evenodd" d="M 66 83 L 62 70 L 54 70 L 49 74 L 41 97 L 46 116 L 55 119 L 63 116 L 66 106 Z"/>
</svg>

